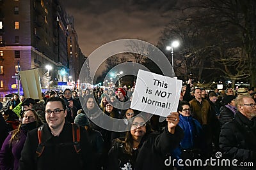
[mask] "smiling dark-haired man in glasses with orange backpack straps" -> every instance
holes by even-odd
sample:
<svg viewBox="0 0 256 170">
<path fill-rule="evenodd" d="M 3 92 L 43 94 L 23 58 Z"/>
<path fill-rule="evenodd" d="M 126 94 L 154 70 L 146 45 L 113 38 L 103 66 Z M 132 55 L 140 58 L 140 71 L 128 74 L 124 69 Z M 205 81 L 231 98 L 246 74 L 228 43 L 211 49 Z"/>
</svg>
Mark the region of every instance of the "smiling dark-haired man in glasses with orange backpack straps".
<svg viewBox="0 0 256 170">
<path fill-rule="evenodd" d="M 72 124 L 68 123 L 65 117 L 67 117 L 65 101 L 59 97 L 49 98 L 45 105 L 47 124 L 42 125 L 41 130 L 33 129 L 28 133 L 21 153 L 20 170 L 90 169 L 93 153 L 87 132 L 84 128 L 80 128 L 81 152 L 77 153 L 74 148 Z M 40 155 L 36 155 L 39 139 L 44 150 Z"/>
</svg>

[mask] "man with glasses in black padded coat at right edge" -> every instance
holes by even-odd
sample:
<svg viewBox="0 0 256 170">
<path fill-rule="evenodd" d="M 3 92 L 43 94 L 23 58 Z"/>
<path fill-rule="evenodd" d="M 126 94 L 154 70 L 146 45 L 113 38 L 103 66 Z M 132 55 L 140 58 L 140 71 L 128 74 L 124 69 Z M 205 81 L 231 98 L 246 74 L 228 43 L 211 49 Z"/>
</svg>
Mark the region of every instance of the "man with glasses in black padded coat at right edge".
<svg viewBox="0 0 256 170">
<path fill-rule="evenodd" d="M 256 164 L 256 103 L 249 95 L 236 98 L 237 113 L 230 122 L 224 124 L 220 132 L 220 148 L 224 157 L 240 162 Z M 242 169 L 242 167 L 234 167 Z"/>
</svg>

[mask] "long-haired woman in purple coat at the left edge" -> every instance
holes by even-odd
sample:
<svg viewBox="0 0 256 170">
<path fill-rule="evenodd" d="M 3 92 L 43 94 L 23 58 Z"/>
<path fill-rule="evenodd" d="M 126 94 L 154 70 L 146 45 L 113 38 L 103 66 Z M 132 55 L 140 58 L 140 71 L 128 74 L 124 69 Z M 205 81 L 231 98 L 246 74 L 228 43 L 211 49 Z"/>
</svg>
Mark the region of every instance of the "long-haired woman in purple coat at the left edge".
<svg viewBox="0 0 256 170">
<path fill-rule="evenodd" d="M 27 132 L 42 125 L 35 110 L 28 109 L 21 117 L 18 129 L 10 132 L 0 151 L 0 169 L 19 169 L 20 153 Z"/>
</svg>

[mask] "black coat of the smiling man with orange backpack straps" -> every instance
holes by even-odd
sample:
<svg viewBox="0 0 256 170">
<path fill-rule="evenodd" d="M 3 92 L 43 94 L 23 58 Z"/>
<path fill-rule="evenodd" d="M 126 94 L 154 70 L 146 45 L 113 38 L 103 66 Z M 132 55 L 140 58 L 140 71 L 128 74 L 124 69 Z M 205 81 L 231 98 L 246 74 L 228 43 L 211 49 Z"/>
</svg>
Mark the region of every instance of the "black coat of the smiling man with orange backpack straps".
<svg viewBox="0 0 256 170">
<path fill-rule="evenodd" d="M 28 132 L 24 148 L 21 152 L 20 170 L 63 170 L 63 169 L 92 169 L 91 146 L 84 128 L 80 128 L 81 153 L 74 149 L 72 139 L 72 125 L 65 123 L 60 136 L 54 137 L 47 124 L 42 130 L 42 144 L 45 144 L 44 152 L 36 157 L 38 147 L 37 129 Z M 81 161 L 82 160 L 82 161 Z"/>
</svg>

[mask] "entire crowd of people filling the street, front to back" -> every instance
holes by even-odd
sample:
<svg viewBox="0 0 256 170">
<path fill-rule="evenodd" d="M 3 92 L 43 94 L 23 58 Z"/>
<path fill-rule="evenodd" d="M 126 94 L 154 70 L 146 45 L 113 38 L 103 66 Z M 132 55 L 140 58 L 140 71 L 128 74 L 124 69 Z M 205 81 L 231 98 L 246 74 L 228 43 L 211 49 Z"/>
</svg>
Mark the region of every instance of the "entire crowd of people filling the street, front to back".
<svg viewBox="0 0 256 170">
<path fill-rule="evenodd" d="M 254 88 L 218 92 L 195 88 L 189 79 L 177 112 L 164 122 L 131 109 L 133 92 L 65 89 L 42 94 L 42 100 L 14 94 L 1 109 L 0 170 L 204 169 L 166 166 L 164 160 L 206 160 L 216 152 L 256 165 Z M 102 128 L 102 115 L 122 120 L 127 131 Z"/>
</svg>

